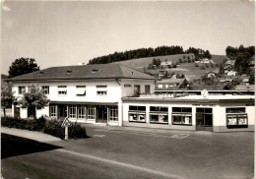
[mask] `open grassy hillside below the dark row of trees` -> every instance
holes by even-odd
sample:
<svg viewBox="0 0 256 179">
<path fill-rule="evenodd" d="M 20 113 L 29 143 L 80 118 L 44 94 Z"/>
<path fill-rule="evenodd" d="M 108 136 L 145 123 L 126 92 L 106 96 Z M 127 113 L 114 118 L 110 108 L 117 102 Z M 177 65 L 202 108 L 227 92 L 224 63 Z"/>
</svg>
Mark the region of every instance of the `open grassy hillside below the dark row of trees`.
<svg viewBox="0 0 256 179">
<path fill-rule="evenodd" d="M 170 69 L 155 69 L 155 70 L 148 70 L 149 64 L 152 63 L 153 59 L 160 59 L 161 62 L 167 60 L 171 61 L 172 63 L 176 63 L 179 61 L 179 59 L 183 60 L 183 56 L 193 56 L 192 53 L 190 54 L 178 54 L 178 55 L 167 55 L 167 56 L 157 56 L 157 57 L 147 57 L 147 58 L 139 58 L 139 59 L 133 59 L 133 60 L 127 60 L 127 61 L 121 61 L 121 62 L 114 62 L 114 63 L 120 63 L 125 66 L 131 67 L 133 69 L 145 72 L 150 72 L 151 74 L 159 74 L 160 71 L 165 70 L 169 74 L 175 73 L 175 74 L 184 74 L 185 77 L 188 80 L 193 79 L 199 79 L 201 76 L 205 75 L 208 72 L 215 72 L 219 73 L 219 67 L 214 66 L 214 68 L 209 64 L 208 68 L 205 64 L 198 64 L 199 67 L 195 67 L 195 63 L 181 63 L 180 66 L 177 66 L 177 68 L 170 68 Z M 223 63 L 225 60 L 224 55 L 212 55 L 212 60 L 217 63 Z M 200 67 L 204 66 L 205 70 L 201 69 Z"/>
</svg>

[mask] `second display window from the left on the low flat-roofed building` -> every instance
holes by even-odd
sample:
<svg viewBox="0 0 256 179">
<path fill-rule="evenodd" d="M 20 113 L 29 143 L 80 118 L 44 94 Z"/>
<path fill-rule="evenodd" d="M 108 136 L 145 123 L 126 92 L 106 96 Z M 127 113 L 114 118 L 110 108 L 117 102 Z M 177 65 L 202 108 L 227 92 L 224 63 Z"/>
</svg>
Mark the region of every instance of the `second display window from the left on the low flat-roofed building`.
<svg viewBox="0 0 256 179">
<path fill-rule="evenodd" d="M 150 122 L 168 124 L 168 107 L 151 106 Z"/>
</svg>

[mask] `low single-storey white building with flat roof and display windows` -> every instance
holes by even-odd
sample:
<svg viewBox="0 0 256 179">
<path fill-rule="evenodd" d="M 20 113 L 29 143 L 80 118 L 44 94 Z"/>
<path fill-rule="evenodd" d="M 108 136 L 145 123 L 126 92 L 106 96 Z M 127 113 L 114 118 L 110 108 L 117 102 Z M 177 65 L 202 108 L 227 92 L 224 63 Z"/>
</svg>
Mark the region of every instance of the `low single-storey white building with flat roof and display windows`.
<svg viewBox="0 0 256 179">
<path fill-rule="evenodd" d="M 162 94 L 123 97 L 123 126 L 175 130 L 254 131 L 254 95 Z"/>
</svg>

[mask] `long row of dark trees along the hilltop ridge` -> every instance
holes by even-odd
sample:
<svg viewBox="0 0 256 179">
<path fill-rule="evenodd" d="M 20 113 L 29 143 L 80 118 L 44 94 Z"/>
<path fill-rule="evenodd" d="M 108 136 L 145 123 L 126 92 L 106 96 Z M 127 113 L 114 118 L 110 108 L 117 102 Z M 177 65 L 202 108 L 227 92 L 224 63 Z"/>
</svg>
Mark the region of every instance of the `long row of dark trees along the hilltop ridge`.
<svg viewBox="0 0 256 179">
<path fill-rule="evenodd" d="M 93 58 L 89 61 L 89 64 L 105 64 L 118 61 L 125 61 L 136 58 L 144 57 L 156 57 L 164 55 L 175 55 L 175 54 L 187 54 L 194 53 L 197 59 L 201 58 L 211 58 L 209 50 L 202 50 L 199 48 L 190 47 L 188 50 L 184 51 L 182 46 L 159 46 L 157 48 L 139 48 L 135 50 L 129 50 L 125 52 L 115 52 L 113 54 L 99 56 Z"/>
</svg>

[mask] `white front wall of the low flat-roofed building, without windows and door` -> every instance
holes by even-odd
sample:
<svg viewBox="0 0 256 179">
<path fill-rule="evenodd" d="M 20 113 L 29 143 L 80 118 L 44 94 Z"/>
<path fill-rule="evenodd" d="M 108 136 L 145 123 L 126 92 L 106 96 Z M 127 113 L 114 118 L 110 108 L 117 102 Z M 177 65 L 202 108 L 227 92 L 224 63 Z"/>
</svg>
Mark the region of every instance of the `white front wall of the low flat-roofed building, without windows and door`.
<svg viewBox="0 0 256 179">
<path fill-rule="evenodd" d="M 146 106 L 146 122 L 129 122 L 129 106 Z M 150 106 L 167 106 L 168 107 L 168 124 L 150 123 Z M 171 114 L 172 107 L 191 107 L 192 108 L 192 125 L 174 125 L 172 124 Z M 164 102 L 164 101 L 123 101 L 123 126 L 162 128 L 174 130 L 197 130 L 196 128 L 196 108 L 212 108 L 213 109 L 213 132 L 233 132 L 233 131 L 254 131 L 255 106 L 246 106 L 246 102 L 232 103 L 197 103 L 193 102 Z M 227 128 L 226 126 L 226 107 L 245 107 L 248 116 L 248 127 L 243 128 Z"/>
</svg>

